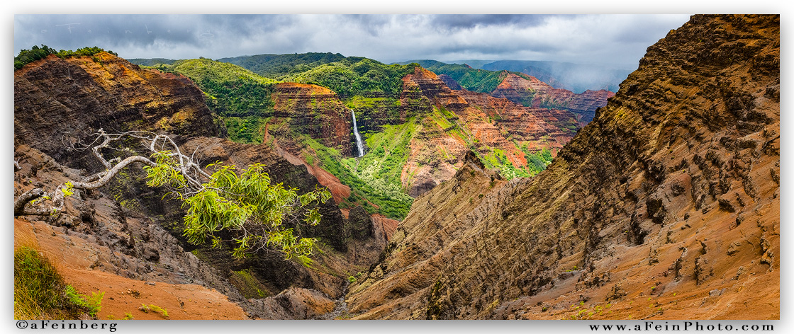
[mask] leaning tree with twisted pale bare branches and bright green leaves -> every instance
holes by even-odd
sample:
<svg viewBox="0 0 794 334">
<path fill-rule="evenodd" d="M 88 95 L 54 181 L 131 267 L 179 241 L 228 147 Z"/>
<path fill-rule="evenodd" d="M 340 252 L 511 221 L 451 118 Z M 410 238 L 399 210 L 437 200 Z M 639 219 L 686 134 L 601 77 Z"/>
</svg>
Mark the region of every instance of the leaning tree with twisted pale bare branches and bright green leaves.
<svg viewBox="0 0 794 334">
<path fill-rule="evenodd" d="M 165 187 L 168 194 L 183 201 L 187 209 L 184 236 L 191 244 L 210 242 L 214 248 L 233 244 L 235 258 L 257 251 L 277 251 L 285 259 L 311 255 L 317 240 L 302 237 L 300 227 L 319 224 L 317 205 L 330 199 L 328 190 L 318 188 L 298 194 L 295 188 L 272 184 L 260 163 L 241 171 L 219 162 L 201 167 L 195 153 L 183 154 L 171 137 L 154 132 L 108 134 L 100 129 L 93 137 L 93 142 L 75 142 L 69 149 L 91 150 L 106 169 L 80 181 L 64 182 L 49 193 L 41 188 L 26 191 L 14 201 L 15 217 L 58 215 L 64 210 L 64 199 L 75 190 L 104 186 L 123 168 L 141 163 L 148 186 Z M 136 155 L 120 147 L 129 139 L 139 140 L 151 155 Z M 117 152 L 118 156 L 107 159 L 108 152 Z M 19 169 L 16 161 L 14 166 Z"/>
</svg>

